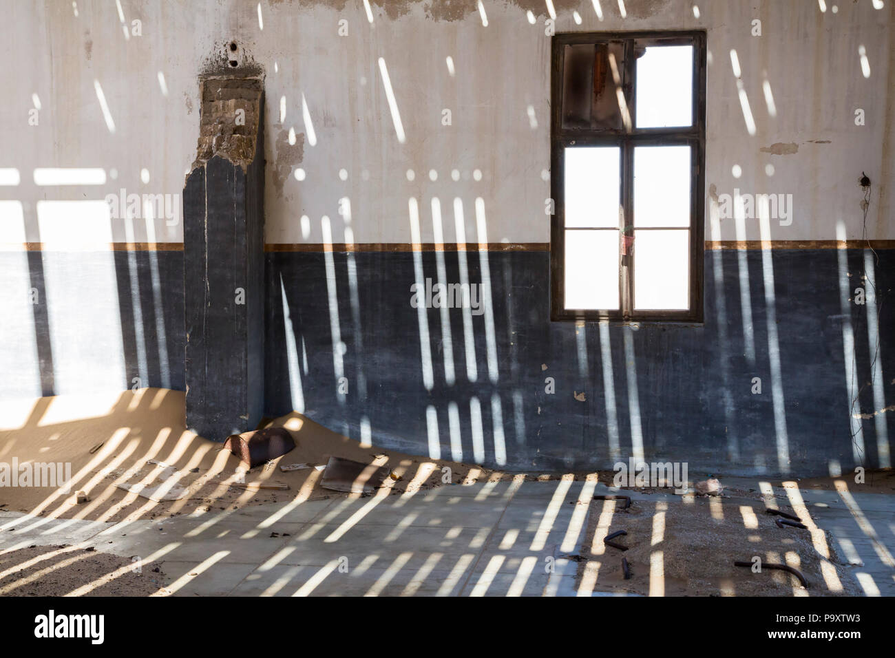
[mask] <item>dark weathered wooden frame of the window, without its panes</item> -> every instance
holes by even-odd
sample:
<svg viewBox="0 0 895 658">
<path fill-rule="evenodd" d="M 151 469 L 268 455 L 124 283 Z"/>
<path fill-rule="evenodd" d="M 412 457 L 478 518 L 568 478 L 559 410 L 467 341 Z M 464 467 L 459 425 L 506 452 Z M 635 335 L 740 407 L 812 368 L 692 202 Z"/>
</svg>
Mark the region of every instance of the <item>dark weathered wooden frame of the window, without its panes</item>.
<svg viewBox="0 0 895 658">
<path fill-rule="evenodd" d="M 693 124 L 673 128 L 636 128 L 634 47 L 636 41 L 652 45 L 693 46 Z M 597 44 L 623 41 L 625 62 L 622 90 L 631 117 L 631 128 L 590 129 L 563 128 L 563 57 L 565 47 L 575 44 Z M 550 319 L 563 320 L 618 320 L 622 322 L 666 321 L 703 322 L 703 252 L 705 234 L 705 80 L 706 33 L 704 30 L 686 31 L 630 31 L 630 32 L 574 32 L 557 34 L 552 39 L 550 81 L 550 190 L 554 214 L 550 220 Z M 690 303 L 685 311 L 635 311 L 633 301 L 633 256 L 622 255 L 619 249 L 618 311 L 598 311 L 565 308 L 565 200 L 564 150 L 567 146 L 618 146 L 621 151 L 619 236 L 634 228 L 634 149 L 636 146 L 689 145 L 690 175 Z M 573 229 L 600 230 L 600 229 Z M 639 229 L 643 230 L 643 229 Z M 620 238 L 619 238 L 620 239 Z M 636 245 L 635 245 L 636 249 Z"/>
</svg>

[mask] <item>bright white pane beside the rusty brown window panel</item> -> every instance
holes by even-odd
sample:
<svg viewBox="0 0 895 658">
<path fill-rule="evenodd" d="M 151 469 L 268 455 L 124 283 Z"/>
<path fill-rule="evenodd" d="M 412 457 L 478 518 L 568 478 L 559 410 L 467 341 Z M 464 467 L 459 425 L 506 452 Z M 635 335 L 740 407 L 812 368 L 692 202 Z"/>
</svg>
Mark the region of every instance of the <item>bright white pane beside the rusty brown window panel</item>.
<svg viewBox="0 0 895 658">
<path fill-rule="evenodd" d="M 647 47 L 635 92 L 638 128 L 693 125 L 693 47 Z"/>
</svg>

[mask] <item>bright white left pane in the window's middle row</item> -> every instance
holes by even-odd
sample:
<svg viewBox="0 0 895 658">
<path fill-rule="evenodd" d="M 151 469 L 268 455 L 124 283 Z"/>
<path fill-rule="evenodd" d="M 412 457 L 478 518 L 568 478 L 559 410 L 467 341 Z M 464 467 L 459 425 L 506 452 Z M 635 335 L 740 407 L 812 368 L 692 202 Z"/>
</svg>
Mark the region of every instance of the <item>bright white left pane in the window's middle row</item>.
<svg viewBox="0 0 895 658">
<path fill-rule="evenodd" d="M 618 146 L 565 150 L 566 226 L 618 226 Z"/>
</svg>

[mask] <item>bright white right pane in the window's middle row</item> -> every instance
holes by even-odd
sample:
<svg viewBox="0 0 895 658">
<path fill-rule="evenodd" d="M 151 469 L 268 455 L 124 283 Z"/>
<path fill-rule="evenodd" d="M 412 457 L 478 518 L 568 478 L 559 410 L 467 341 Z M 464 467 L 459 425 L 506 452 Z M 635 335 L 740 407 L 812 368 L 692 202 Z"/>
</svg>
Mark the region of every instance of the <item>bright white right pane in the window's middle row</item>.
<svg viewBox="0 0 895 658">
<path fill-rule="evenodd" d="M 634 150 L 634 226 L 690 226 L 690 147 Z"/>
</svg>

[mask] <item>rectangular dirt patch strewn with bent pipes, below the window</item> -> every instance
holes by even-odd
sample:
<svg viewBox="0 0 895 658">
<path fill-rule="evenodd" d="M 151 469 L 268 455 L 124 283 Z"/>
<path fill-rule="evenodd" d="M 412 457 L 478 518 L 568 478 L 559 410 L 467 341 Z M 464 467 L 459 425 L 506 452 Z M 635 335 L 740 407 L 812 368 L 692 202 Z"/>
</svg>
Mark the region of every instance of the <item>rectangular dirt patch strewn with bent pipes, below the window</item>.
<svg viewBox="0 0 895 658">
<path fill-rule="evenodd" d="M 594 500 L 578 562 L 576 587 L 587 591 L 665 596 L 861 595 L 836 554 L 830 536 L 800 517 L 807 529 L 780 528 L 753 497 L 686 496 L 672 500 Z M 782 511 L 797 516 L 792 508 Z M 623 530 L 606 545 L 607 535 Z M 625 578 L 622 559 L 630 578 Z M 735 561 L 763 568 L 737 567 Z M 768 568 L 785 564 L 797 577 Z"/>
</svg>

